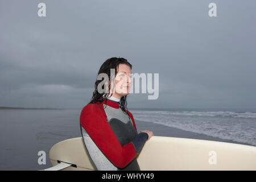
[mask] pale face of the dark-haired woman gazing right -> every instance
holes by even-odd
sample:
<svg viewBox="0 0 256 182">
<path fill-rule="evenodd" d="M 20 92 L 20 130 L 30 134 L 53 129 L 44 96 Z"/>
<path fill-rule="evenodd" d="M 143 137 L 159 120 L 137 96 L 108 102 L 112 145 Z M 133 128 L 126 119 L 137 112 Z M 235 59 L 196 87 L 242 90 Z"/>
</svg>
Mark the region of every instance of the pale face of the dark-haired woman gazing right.
<svg viewBox="0 0 256 182">
<path fill-rule="evenodd" d="M 118 65 L 118 72 L 115 76 L 115 84 L 111 83 L 110 94 L 114 86 L 114 92 L 112 96 L 121 98 L 129 94 L 129 89 L 132 84 L 131 68 L 126 64 Z"/>
</svg>

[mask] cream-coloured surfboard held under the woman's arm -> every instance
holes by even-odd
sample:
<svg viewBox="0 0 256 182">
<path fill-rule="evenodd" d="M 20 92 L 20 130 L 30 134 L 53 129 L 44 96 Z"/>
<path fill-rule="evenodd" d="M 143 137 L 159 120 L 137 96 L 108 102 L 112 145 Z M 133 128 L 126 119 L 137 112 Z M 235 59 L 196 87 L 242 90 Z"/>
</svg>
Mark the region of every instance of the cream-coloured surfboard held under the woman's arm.
<svg viewBox="0 0 256 182">
<path fill-rule="evenodd" d="M 82 137 L 56 143 L 49 151 L 52 166 L 62 170 L 96 170 Z M 144 170 L 256 170 L 256 147 L 210 140 L 151 137 L 137 156 Z"/>
</svg>

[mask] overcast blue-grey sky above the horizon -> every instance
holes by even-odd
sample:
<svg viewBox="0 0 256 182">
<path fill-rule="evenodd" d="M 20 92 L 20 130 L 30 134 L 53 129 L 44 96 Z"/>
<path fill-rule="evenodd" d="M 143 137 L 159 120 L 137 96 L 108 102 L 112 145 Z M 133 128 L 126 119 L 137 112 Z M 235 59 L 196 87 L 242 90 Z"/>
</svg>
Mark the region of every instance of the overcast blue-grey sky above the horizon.
<svg viewBox="0 0 256 182">
<path fill-rule="evenodd" d="M 80 109 L 101 64 L 124 57 L 133 73 L 159 73 L 158 100 L 130 94 L 128 109 L 256 111 L 255 5 L 0 0 L 0 106 Z"/>
</svg>

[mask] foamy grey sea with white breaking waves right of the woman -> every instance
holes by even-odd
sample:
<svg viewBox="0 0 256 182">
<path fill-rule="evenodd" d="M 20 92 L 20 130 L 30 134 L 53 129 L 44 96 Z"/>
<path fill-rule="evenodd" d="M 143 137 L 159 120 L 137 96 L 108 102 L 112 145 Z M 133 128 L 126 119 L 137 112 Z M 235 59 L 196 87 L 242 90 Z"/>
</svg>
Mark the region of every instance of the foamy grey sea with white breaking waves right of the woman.
<svg viewBox="0 0 256 182">
<path fill-rule="evenodd" d="M 141 121 L 256 146 L 256 113 L 239 111 L 131 110 Z"/>
</svg>

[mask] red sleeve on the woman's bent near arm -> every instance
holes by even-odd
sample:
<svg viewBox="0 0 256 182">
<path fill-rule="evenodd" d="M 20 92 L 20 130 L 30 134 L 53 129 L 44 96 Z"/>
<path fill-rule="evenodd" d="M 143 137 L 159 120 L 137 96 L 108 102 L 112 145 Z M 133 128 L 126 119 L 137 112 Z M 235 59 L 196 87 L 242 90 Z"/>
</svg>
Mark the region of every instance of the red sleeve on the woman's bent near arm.
<svg viewBox="0 0 256 182">
<path fill-rule="evenodd" d="M 115 166 L 124 168 L 137 156 L 133 143 L 121 145 L 108 123 L 102 104 L 86 105 L 81 111 L 80 124 Z"/>
</svg>

